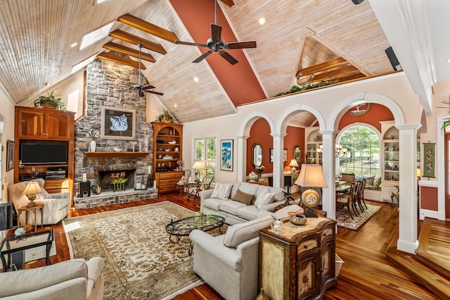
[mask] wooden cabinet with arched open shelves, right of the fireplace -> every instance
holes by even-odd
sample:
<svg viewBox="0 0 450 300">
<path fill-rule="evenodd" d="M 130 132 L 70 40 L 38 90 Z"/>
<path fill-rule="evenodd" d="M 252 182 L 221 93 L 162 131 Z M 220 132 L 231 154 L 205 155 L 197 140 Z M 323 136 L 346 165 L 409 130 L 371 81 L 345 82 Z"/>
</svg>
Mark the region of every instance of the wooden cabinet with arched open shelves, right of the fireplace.
<svg viewBox="0 0 450 300">
<path fill-rule="evenodd" d="M 183 125 L 152 122 L 153 178 L 158 192 L 173 192 L 183 175 L 177 161 L 183 160 Z"/>
</svg>

